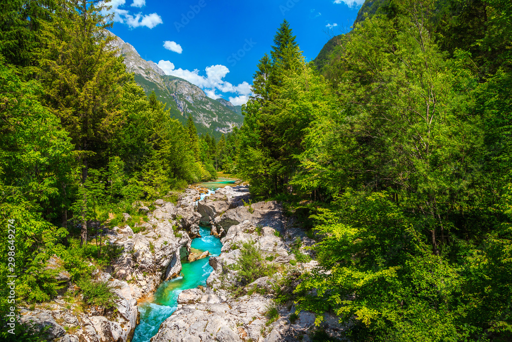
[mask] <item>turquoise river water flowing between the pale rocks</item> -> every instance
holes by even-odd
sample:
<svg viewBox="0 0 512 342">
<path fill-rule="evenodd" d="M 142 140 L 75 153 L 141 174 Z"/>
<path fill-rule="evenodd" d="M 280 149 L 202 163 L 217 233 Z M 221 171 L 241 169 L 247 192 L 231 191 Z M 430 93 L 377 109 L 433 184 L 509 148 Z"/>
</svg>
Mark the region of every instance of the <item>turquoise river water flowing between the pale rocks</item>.
<svg viewBox="0 0 512 342">
<path fill-rule="evenodd" d="M 207 194 L 201 195 L 201 200 L 218 188 L 233 184 L 231 179 L 218 179 L 218 182 L 201 183 L 199 186 L 209 189 Z M 209 251 L 211 256 L 221 253 L 222 244 L 219 238 L 210 235 L 210 229 L 200 227 L 202 237 L 192 241 L 191 248 Z M 181 291 L 194 289 L 199 285 L 206 286 L 206 279 L 213 269 L 208 264 L 209 257 L 193 261 L 182 261 L 182 270 L 179 277 L 164 281 L 153 296 L 153 300 L 139 305 L 140 324 L 135 329 L 133 342 L 148 342 L 158 332 L 160 324 L 177 309 L 177 299 Z"/>
</svg>

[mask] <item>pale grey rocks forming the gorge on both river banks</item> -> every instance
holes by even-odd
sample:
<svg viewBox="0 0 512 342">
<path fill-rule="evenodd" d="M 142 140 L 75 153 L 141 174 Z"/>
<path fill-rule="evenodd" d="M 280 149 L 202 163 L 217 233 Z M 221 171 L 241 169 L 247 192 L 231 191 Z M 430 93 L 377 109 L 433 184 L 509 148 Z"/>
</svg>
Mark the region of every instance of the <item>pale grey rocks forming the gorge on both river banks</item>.
<svg viewBox="0 0 512 342">
<path fill-rule="evenodd" d="M 291 299 L 275 299 L 291 293 L 298 277 L 317 265 L 314 252 L 304 248 L 314 241 L 293 217 L 284 215 L 282 204 L 251 203 L 248 186 L 228 186 L 199 200 L 201 192 L 187 189 L 176 205 L 156 200 L 152 211 L 141 206 L 147 222 L 140 233 L 129 226 L 106 231 L 109 243 L 122 253 L 95 277 L 111 285 L 117 295 L 115 310 L 85 307 L 63 295 L 45 306 L 22 309 L 22 321 L 44 331 L 48 340 L 131 341 L 140 321 L 138 304 L 150 300 L 164 281 L 179 276 L 183 259 L 208 257 L 206 251 L 194 253 L 190 247 L 201 225 L 221 239 L 221 253 L 209 257 L 212 271 L 205 286 L 179 293 L 176 311 L 151 341 L 310 340 L 317 329 L 315 315 L 296 312 Z M 256 266 L 273 270 L 250 283 L 237 268 L 247 246 L 255 246 L 261 256 Z M 65 275 L 62 279 L 69 280 Z M 344 327 L 334 316 L 324 318 L 324 330 L 338 337 Z"/>
</svg>

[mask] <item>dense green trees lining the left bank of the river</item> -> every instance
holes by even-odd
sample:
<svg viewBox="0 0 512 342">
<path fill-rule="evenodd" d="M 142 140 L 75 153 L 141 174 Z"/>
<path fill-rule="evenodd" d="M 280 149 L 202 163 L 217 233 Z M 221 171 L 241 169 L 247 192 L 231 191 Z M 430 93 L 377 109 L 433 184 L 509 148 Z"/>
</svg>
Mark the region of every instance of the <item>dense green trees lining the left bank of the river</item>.
<svg viewBox="0 0 512 342">
<path fill-rule="evenodd" d="M 84 260 L 109 258 L 88 236 L 101 239 L 109 214 L 116 222 L 136 200 L 216 177 L 194 122 L 170 118 L 126 72 L 105 10 L 97 0 L 0 2 L 0 278 L 12 242 L 16 304 L 56 295 L 53 255 L 73 280 L 89 272 Z M 12 304 L 0 291 L 8 338 Z"/>
</svg>

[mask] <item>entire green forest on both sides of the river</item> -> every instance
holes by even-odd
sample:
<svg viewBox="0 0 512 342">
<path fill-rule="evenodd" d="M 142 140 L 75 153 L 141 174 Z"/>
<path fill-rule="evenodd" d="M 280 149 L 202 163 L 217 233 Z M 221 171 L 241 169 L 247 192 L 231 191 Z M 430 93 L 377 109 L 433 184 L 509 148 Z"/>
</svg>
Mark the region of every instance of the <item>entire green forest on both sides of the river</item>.
<svg viewBox="0 0 512 342">
<path fill-rule="evenodd" d="M 102 2 L 3 1 L 0 277 L 9 220 L 20 300 L 39 303 L 59 290 L 52 255 L 73 280 L 113 257 L 88 244 L 91 222 L 223 170 L 315 240 L 293 299 L 317 325 L 330 312 L 352 341 L 510 340 L 512 3 L 376 4 L 320 69 L 284 21 L 242 128 L 217 142 L 134 82 Z"/>
</svg>

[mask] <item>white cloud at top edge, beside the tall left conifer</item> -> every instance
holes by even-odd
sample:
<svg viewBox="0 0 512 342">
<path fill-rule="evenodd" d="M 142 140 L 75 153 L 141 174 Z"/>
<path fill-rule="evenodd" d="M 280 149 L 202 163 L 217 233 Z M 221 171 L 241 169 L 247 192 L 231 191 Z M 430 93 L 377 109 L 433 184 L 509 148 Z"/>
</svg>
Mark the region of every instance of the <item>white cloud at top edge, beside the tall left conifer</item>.
<svg viewBox="0 0 512 342">
<path fill-rule="evenodd" d="M 126 0 L 111 0 L 103 2 L 102 5 L 111 6 L 110 10 L 102 11 L 103 15 L 114 14 L 113 21 L 116 23 L 126 24 L 131 28 L 145 26 L 147 28 L 154 28 L 158 24 L 163 24 L 162 17 L 157 13 L 144 15 L 142 13 L 132 14 L 130 11 L 121 9 L 126 4 Z M 140 6 L 139 6 L 140 5 Z M 142 7 L 145 5 L 145 0 L 134 0 L 132 6 Z"/>
</svg>

